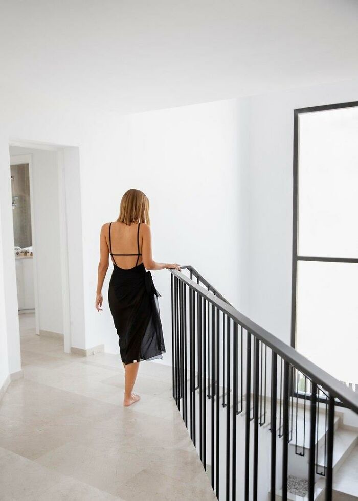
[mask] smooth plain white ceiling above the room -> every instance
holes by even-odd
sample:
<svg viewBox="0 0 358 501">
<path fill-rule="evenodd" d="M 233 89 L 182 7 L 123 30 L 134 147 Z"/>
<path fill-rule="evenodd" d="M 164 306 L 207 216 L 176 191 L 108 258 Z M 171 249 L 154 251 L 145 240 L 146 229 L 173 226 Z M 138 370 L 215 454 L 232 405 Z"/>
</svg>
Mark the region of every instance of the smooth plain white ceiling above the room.
<svg viewBox="0 0 358 501">
<path fill-rule="evenodd" d="M 122 112 L 358 76 L 356 0 L 0 0 L 0 82 Z"/>
</svg>

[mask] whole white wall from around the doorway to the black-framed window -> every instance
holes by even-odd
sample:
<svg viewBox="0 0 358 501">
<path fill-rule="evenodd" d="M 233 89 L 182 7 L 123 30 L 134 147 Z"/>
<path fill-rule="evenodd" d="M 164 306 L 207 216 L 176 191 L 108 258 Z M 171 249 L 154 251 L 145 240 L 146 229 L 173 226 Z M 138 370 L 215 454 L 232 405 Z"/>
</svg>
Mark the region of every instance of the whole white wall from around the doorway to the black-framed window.
<svg viewBox="0 0 358 501">
<path fill-rule="evenodd" d="M 83 261 L 77 255 L 74 264 L 83 282 L 85 347 L 104 342 L 107 350 L 118 350 L 106 298 L 111 265 L 104 311 L 94 308 L 99 232 L 104 222 L 115 220 L 120 198 L 131 187 L 142 189 L 151 201 L 156 260 L 193 264 L 243 313 L 289 342 L 293 110 L 356 100 L 357 84 L 346 81 L 122 117 L 70 109 L 34 94 L 1 96 L 0 214 L 10 372 L 20 368 L 10 139 L 79 147 Z M 72 252 L 69 248 L 70 256 Z M 168 346 L 169 272 L 154 273 L 154 281 L 162 294 Z M 170 363 L 169 350 L 165 362 Z"/>
</svg>

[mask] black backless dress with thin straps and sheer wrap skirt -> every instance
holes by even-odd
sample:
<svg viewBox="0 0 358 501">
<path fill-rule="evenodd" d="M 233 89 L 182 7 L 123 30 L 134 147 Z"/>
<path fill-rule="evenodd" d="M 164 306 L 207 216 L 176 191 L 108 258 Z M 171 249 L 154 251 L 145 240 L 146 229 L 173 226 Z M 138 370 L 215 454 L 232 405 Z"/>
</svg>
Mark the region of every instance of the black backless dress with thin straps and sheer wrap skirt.
<svg viewBox="0 0 358 501">
<path fill-rule="evenodd" d="M 124 363 L 163 358 L 165 353 L 163 329 L 158 298 L 150 271 L 144 264 L 137 265 L 139 256 L 139 226 L 137 254 L 113 254 L 110 241 L 109 253 L 113 260 L 113 272 L 108 287 L 108 304 L 119 337 L 119 349 Z M 137 256 L 136 266 L 123 269 L 117 266 L 113 256 Z"/>
</svg>

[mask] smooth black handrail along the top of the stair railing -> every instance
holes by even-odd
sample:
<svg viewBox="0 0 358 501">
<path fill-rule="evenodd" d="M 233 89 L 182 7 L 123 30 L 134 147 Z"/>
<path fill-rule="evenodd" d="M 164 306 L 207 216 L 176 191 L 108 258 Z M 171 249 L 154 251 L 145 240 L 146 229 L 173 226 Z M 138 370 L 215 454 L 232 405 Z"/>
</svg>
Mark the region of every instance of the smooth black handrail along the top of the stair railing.
<svg viewBox="0 0 358 501">
<path fill-rule="evenodd" d="M 181 269 L 189 268 L 189 266 L 181 266 Z M 190 266 L 192 270 L 192 268 Z M 347 388 L 341 381 L 331 376 L 328 372 L 318 367 L 314 362 L 301 355 L 295 348 L 287 345 L 284 341 L 271 334 L 260 325 L 256 324 L 250 318 L 240 313 L 231 304 L 222 300 L 218 294 L 210 293 L 205 287 L 197 284 L 182 272 L 176 269 L 169 270 L 174 276 L 182 280 L 186 285 L 195 290 L 209 303 L 216 306 L 220 311 L 224 312 L 234 322 L 239 324 L 245 330 L 260 339 L 264 344 L 269 346 L 281 358 L 289 362 L 300 372 L 311 378 L 315 383 L 322 385 L 330 394 L 341 400 L 348 408 L 358 414 L 358 394 Z M 202 280 L 203 283 L 207 282 Z"/>
</svg>

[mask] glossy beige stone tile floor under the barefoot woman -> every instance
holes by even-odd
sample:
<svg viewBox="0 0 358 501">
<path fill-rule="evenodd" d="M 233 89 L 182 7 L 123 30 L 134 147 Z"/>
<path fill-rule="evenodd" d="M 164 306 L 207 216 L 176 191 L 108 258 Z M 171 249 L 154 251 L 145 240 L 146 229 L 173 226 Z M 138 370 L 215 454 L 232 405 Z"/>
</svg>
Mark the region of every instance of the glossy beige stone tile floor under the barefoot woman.
<svg viewBox="0 0 358 501">
<path fill-rule="evenodd" d="M 171 368 L 141 362 L 122 406 L 119 355 L 63 353 L 20 315 L 24 378 L 0 402 L 1 501 L 214 500 L 171 396 Z"/>
</svg>

